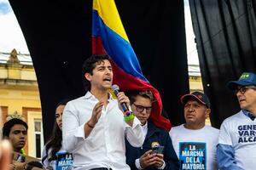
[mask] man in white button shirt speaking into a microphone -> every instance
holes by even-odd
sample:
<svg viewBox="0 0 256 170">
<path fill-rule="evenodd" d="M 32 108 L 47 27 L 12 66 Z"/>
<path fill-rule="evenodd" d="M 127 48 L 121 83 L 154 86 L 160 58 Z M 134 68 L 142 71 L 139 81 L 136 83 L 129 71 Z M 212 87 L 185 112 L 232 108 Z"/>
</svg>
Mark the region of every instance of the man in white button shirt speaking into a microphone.
<svg viewBox="0 0 256 170">
<path fill-rule="evenodd" d="M 125 137 L 131 145 L 143 144 L 143 130 L 131 111 L 123 113 L 119 104 L 130 108 L 124 93 L 117 99 L 108 93 L 113 82 L 108 55 L 92 55 L 83 65 L 87 93 L 67 103 L 63 113 L 63 147 L 73 153 L 73 169 L 128 170 Z"/>
</svg>

